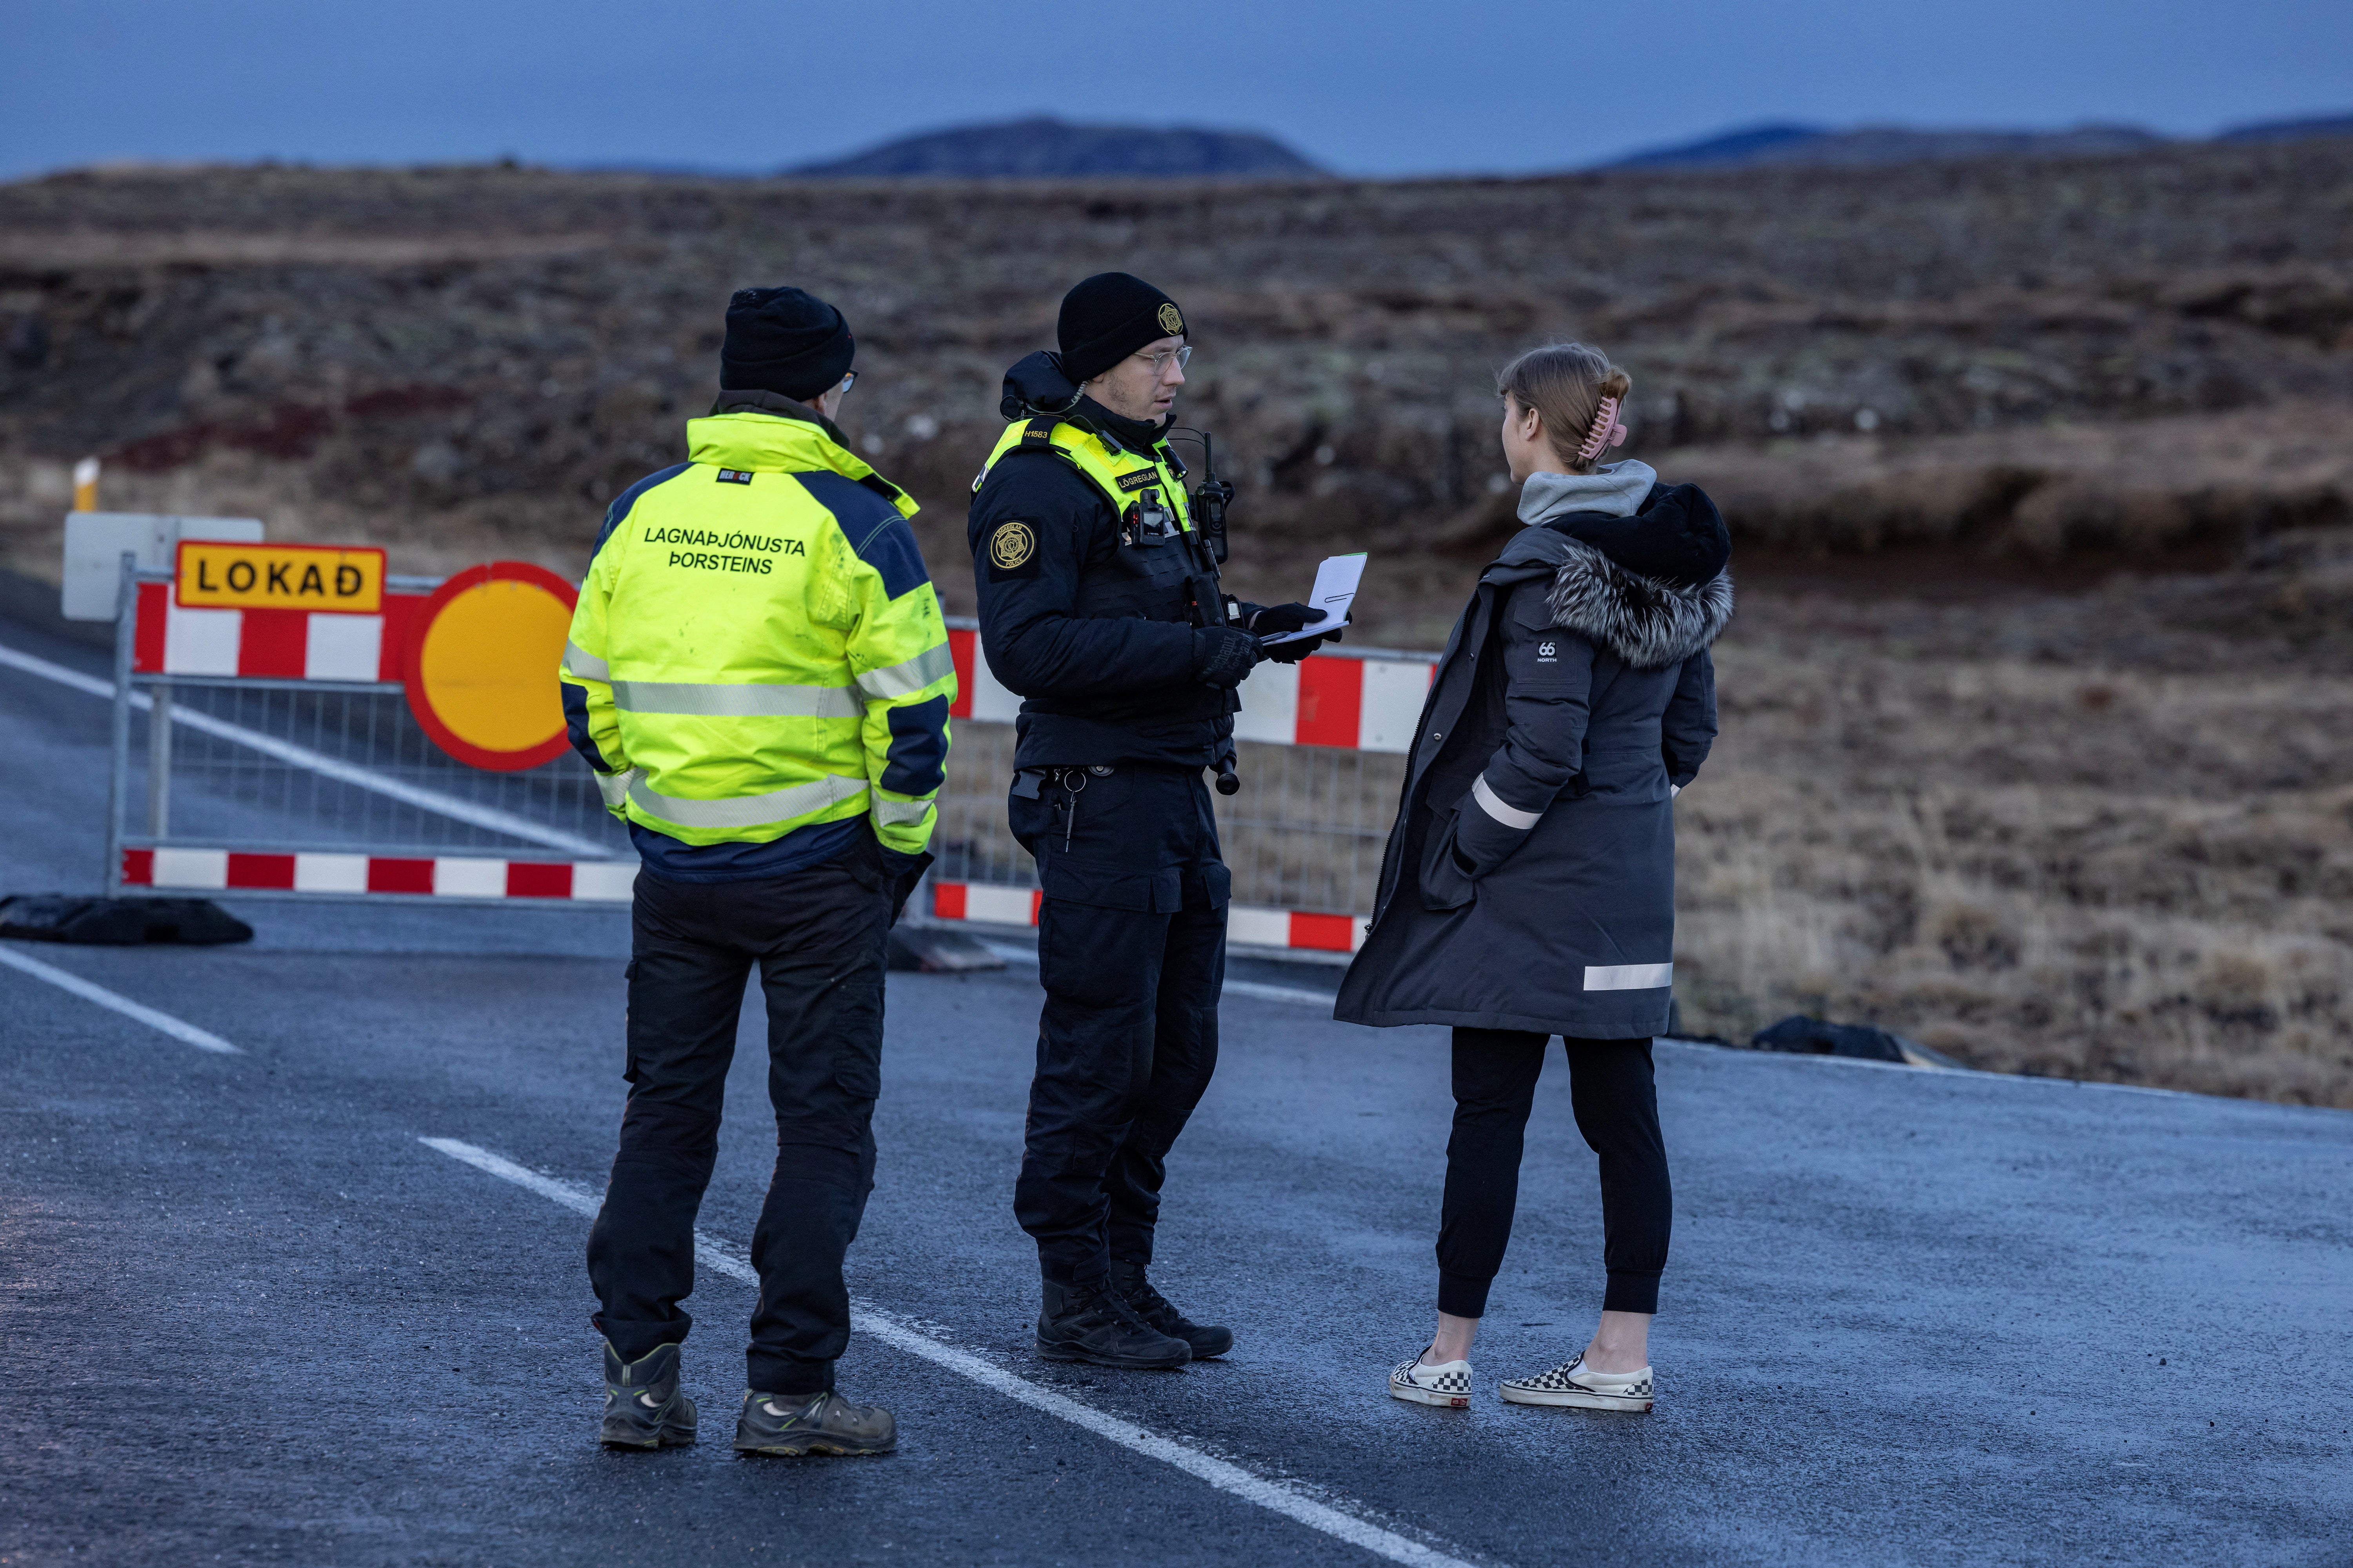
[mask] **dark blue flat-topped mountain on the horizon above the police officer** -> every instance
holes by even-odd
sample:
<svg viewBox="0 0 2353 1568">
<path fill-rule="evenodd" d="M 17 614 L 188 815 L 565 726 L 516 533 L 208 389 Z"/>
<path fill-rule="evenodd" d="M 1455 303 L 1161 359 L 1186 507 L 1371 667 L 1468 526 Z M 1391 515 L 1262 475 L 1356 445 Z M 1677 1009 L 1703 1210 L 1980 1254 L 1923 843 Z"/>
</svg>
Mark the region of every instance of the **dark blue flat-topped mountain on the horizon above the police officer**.
<svg viewBox="0 0 2353 1568">
<path fill-rule="evenodd" d="M 1257 132 L 1068 125 L 1052 118 L 955 125 L 786 174 L 814 179 L 1301 179 L 1320 167 Z"/>
</svg>

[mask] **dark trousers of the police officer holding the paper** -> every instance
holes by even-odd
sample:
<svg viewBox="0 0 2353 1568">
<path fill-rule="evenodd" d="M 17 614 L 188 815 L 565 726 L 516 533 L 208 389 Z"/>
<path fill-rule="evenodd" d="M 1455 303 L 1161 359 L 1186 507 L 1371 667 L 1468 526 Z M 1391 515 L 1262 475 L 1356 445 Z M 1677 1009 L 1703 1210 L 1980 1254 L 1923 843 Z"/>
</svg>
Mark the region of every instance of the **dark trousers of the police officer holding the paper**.
<svg viewBox="0 0 2353 1568">
<path fill-rule="evenodd" d="M 1038 1077 L 1014 1218 L 1054 1284 L 1151 1262 L 1160 1180 L 1217 1070 L 1226 863 L 1200 769 L 1024 773 L 1038 858 Z"/>
</svg>

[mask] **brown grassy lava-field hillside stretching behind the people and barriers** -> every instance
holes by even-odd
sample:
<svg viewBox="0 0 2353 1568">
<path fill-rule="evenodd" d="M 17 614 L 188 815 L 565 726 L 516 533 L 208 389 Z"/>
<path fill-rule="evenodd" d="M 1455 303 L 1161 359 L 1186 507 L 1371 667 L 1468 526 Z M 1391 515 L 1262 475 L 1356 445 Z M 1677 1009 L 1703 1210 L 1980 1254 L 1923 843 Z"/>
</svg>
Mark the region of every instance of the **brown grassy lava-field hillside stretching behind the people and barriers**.
<svg viewBox="0 0 2353 1568">
<path fill-rule="evenodd" d="M 852 435 L 969 607 L 998 376 L 1101 268 L 1176 294 L 1235 581 L 1377 552 L 1431 646 L 1511 527 L 1492 371 L 1586 336 L 1739 536 L 1680 804 L 1689 1023 L 2353 1105 L 2353 141 L 1897 169 L 842 186 L 174 169 L 0 186 L 0 564 L 106 503 L 576 571 L 718 313 L 852 317 Z"/>
</svg>

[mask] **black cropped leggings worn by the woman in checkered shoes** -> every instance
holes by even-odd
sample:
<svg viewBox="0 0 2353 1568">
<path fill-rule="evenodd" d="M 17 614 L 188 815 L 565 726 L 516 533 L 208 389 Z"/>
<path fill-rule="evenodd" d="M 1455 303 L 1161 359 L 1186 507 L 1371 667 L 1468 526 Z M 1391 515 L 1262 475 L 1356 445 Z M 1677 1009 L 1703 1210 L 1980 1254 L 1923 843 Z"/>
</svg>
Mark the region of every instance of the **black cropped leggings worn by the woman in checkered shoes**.
<svg viewBox="0 0 2353 1568">
<path fill-rule="evenodd" d="M 1438 1309 L 1485 1316 L 1520 1201 L 1520 1150 L 1548 1034 L 1454 1030 L 1454 1135 L 1438 1225 Z M 1562 1039 L 1569 1107 L 1602 1164 L 1602 1312 L 1657 1312 L 1673 1192 L 1647 1039 Z"/>
</svg>

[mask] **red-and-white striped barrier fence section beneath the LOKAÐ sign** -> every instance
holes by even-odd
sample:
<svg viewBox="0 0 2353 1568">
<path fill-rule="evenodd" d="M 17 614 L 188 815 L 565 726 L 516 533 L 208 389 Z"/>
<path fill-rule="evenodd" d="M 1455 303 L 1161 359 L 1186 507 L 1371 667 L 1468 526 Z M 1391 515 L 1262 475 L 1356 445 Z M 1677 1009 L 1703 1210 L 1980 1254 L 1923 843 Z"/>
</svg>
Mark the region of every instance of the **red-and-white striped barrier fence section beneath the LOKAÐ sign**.
<svg viewBox="0 0 2353 1568">
<path fill-rule="evenodd" d="M 294 675 L 240 675 L 256 663 L 252 630 L 176 611 L 169 581 L 167 571 L 125 571 L 108 893 L 628 900 L 638 875 L 628 830 L 576 757 L 489 773 L 433 745 L 400 682 L 313 679 L 299 672 L 304 658 L 271 665 Z M 388 583 L 395 595 L 433 585 Z M 353 632 L 369 628 L 334 628 L 344 639 Z M 358 675 L 381 665 L 372 651 L 322 658 L 322 642 L 332 637 L 294 644 L 308 646 L 308 668 Z"/>
</svg>

